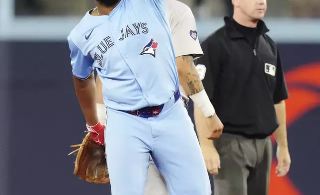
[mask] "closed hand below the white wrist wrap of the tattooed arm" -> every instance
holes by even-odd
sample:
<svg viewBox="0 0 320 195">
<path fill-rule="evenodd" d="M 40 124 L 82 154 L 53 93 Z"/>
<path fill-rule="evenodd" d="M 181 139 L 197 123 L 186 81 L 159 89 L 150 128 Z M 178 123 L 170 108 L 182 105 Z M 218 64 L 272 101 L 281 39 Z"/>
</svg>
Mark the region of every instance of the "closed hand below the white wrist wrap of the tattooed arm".
<svg viewBox="0 0 320 195">
<path fill-rule="evenodd" d="M 208 139 L 215 139 L 221 136 L 222 130 L 223 130 L 223 124 L 220 121 L 217 114 L 214 114 L 211 117 L 207 117 L 207 125 L 208 125 L 209 132 L 206 137 Z"/>
</svg>

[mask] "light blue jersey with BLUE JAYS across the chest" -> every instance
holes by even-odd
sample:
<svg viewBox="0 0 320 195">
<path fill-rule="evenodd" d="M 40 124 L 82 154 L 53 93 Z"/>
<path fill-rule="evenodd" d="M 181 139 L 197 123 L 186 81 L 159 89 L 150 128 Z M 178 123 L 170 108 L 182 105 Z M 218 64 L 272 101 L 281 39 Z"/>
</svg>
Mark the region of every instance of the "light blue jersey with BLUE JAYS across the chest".
<svg viewBox="0 0 320 195">
<path fill-rule="evenodd" d="M 112 109 L 172 98 L 179 83 L 165 0 L 121 0 L 109 15 L 90 11 L 68 36 L 73 74 L 86 79 L 96 68 Z"/>
</svg>

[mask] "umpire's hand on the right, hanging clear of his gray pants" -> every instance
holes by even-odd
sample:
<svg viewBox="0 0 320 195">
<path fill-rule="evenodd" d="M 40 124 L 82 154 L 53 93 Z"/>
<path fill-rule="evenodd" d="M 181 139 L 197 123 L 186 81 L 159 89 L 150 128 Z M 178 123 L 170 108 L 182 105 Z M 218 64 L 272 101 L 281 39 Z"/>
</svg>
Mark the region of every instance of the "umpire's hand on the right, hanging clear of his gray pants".
<svg viewBox="0 0 320 195">
<path fill-rule="evenodd" d="M 277 147 L 277 160 L 276 174 L 278 177 L 283 177 L 289 172 L 291 164 L 288 147 Z"/>
</svg>

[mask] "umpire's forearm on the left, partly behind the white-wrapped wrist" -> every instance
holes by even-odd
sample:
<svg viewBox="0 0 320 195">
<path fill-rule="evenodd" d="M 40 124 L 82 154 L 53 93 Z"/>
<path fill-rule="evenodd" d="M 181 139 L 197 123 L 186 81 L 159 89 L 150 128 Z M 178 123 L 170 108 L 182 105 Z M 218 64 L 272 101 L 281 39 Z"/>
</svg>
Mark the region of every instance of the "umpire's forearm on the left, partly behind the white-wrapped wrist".
<svg viewBox="0 0 320 195">
<path fill-rule="evenodd" d="M 202 111 L 194 106 L 194 123 L 196 126 L 196 131 L 198 134 L 198 139 L 201 147 L 214 147 L 213 141 L 207 138 L 209 133 L 208 126 L 206 125 L 206 117 L 203 115 Z"/>
</svg>

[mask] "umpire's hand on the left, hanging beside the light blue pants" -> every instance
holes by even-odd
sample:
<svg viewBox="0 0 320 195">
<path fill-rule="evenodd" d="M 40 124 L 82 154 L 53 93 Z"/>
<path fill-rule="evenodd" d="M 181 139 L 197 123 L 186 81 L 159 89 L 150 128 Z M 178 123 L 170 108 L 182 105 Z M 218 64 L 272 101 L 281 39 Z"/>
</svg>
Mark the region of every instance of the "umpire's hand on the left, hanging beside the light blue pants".
<svg viewBox="0 0 320 195">
<path fill-rule="evenodd" d="M 220 156 L 216 148 L 212 145 L 201 146 L 202 155 L 206 163 L 208 172 L 211 175 L 217 175 L 220 169 Z"/>
</svg>

